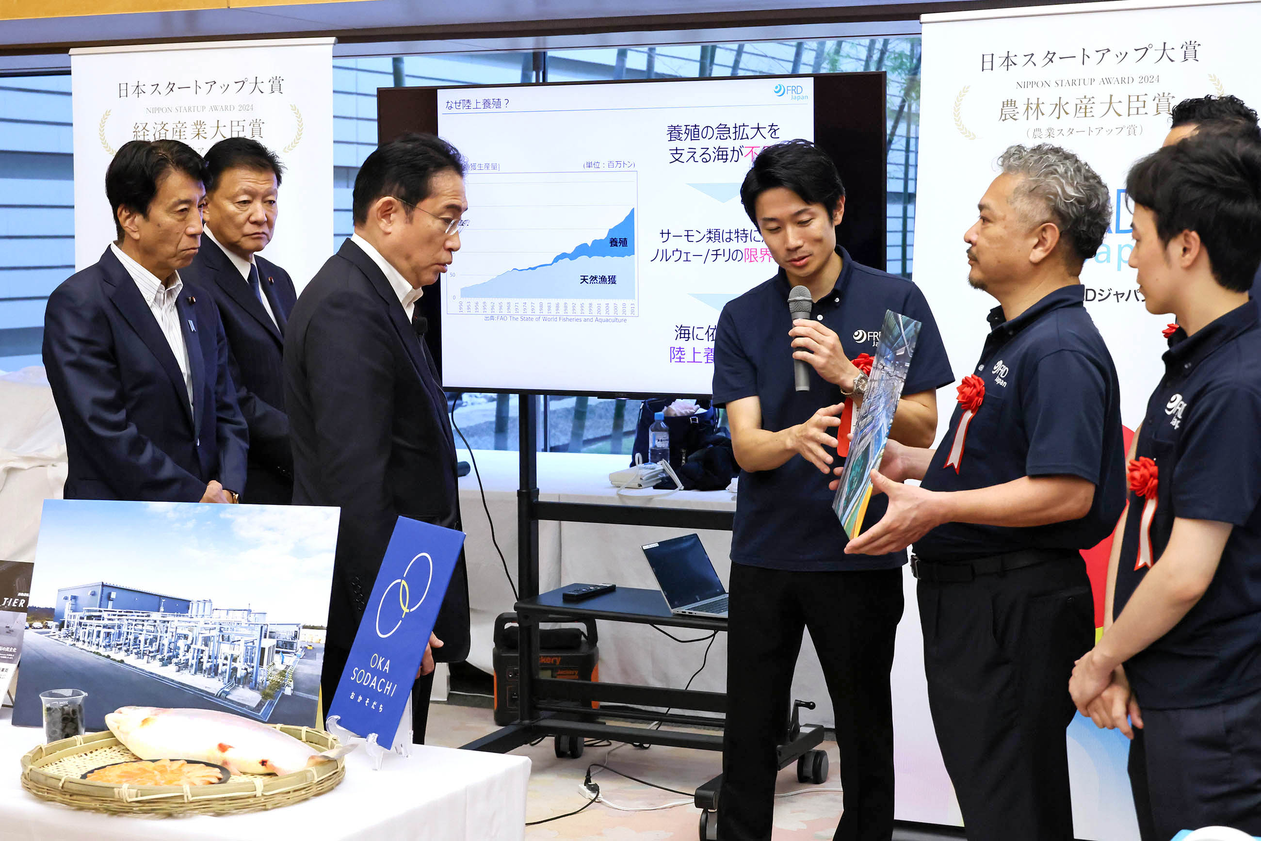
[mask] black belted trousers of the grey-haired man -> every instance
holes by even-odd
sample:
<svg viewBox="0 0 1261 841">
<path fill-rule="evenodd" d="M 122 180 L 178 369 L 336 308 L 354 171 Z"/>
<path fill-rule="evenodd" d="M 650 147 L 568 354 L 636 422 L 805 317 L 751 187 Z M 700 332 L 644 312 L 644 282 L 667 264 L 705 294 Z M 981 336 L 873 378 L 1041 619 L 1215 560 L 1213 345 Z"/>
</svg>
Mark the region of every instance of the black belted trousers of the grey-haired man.
<svg viewBox="0 0 1261 841">
<path fill-rule="evenodd" d="M 918 601 L 928 706 L 968 841 L 1072 841 L 1068 678 L 1095 644 L 1081 555 L 921 581 Z"/>
</svg>

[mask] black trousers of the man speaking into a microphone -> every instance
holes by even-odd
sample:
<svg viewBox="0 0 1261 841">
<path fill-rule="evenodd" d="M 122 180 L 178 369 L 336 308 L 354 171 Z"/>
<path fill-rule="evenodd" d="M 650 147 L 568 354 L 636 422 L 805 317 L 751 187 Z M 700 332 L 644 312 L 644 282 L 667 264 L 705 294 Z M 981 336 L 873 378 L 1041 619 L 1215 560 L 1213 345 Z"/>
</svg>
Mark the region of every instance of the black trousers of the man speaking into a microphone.
<svg viewBox="0 0 1261 841">
<path fill-rule="evenodd" d="M 723 841 L 770 838 L 776 746 L 786 740 L 793 667 L 805 628 L 836 710 L 845 811 L 834 837 L 892 837 L 889 672 L 902 608 L 900 569 L 788 572 L 731 565 L 718 808 Z"/>
</svg>

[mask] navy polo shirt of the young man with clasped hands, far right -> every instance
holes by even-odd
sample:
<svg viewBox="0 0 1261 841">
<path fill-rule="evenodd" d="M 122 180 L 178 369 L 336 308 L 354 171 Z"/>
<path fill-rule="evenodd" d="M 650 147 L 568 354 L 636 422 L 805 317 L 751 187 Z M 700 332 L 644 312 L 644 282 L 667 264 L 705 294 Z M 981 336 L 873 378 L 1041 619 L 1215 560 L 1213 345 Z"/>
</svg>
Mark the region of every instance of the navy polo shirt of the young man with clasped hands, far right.
<svg viewBox="0 0 1261 841">
<path fill-rule="evenodd" d="M 1188 337 L 1170 337 L 1165 374 L 1148 401 L 1136 455 L 1156 463 L 1151 560 L 1174 518 L 1235 526 L 1204 596 L 1125 664 L 1139 704 L 1183 709 L 1261 690 L 1261 325 L 1250 300 Z M 1146 501 L 1130 493 L 1113 617 L 1149 566 L 1139 564 Z"/>
</svg>

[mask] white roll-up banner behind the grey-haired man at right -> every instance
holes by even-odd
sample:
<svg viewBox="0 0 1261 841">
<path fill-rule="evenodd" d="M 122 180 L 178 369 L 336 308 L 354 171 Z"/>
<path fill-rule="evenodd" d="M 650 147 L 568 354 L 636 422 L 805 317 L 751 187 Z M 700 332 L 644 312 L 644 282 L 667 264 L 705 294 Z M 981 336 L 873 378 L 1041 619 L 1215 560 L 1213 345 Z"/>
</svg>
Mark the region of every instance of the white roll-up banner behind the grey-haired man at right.
<svg viewBox="0 0 1261 841">
<path fill-rule="evenodd" d="M 1093 3 L 923 18 L 919 194 L 914 280 L 928 296 L 956 372 L 967 372 L 995 301 L 967 286 L 963 233 L 1013 144 L 1054 144 L 1086 160 L 1112 192 L 1112 226 L 1086 261 L 1086 306 L 1121 380 L 1121 412 L 1135 427 L 1160 378 L 1169 316 L 1144 309 L 1131 251 L 1125 177 L 1158 149 L 1170 110 L 1206 95 L 1261 105 L 1255 72 L 1256 3 Z M 938 400 L 938 438 L 953 387 Z M 1072 407 L 1066 406 L 1066 411 Z M 1102 624 L 1106 555 L 1088 556 Z M 918 612 L 899 629 L 894 666 L 898 809 L 902 820 L 958 823 L 923 683 Z M 1137 838 L 1125 773 L 1129 743 L 1077 716 L 1068 729 L 1078 838 Z M 1013 827 L 1014 835 L 1019 828 Z"/>
</svg>

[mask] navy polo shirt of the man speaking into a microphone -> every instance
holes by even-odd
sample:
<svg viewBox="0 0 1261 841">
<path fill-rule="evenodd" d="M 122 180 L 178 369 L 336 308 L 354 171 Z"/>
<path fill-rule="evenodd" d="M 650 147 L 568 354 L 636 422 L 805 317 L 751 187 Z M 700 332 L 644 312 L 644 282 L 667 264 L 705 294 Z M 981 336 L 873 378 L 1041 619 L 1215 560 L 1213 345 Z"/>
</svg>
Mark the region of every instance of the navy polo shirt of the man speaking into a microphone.
<svg viewBox="0 0 1261 841">
<path fill-rule="evenodd" d="M 854 262 L 845 248 L 832 291 L 815 303 L 812 318 L 840 335 L 845 356 L 874 356 L 885 310 L 923 322 L 904 395 L 955 381 L 937 323 L 923 293 L 909 280 Z M 762 403 L 762 429 L 779 431 L 805 422 L 823 406 L 841 402 L 840 386 L 810 371 L 810 391 L 794 391 L 792 316 L 783 269 L 723 308 L 714 344 L 714 402 L 743 397 Z M 842 432 L 847 434 L 849 430 Z M 844 464 L 837 459 L 835 467 Z M 875 570 L 905 564 L 905 552 L 845 555 L 849 538 L 832 511 L 834 477 L 793 455 L 774 470 L 740 472 L 731 560 L 779 570 Z M 875 496 L 866 525 L 884 514 L 888 498 Z"/>
</svg>

